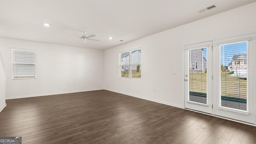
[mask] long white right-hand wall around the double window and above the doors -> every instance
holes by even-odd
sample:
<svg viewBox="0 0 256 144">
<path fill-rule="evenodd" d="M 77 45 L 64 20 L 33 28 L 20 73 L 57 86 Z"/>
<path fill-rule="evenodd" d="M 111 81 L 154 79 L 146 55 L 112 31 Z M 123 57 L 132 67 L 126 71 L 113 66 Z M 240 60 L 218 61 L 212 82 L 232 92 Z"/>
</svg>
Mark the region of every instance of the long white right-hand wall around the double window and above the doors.
<svg viewBox="0 0 256 144">
<path fill-rule="evenodd" d="M 105 50 L 104 87 L 184 108 L 184 45 L 255 31 L 254 14 L 256 2 Z M 138 47 L 142 47 L 141 79 L 118 78 L 118 53 Z"/>
</svg>

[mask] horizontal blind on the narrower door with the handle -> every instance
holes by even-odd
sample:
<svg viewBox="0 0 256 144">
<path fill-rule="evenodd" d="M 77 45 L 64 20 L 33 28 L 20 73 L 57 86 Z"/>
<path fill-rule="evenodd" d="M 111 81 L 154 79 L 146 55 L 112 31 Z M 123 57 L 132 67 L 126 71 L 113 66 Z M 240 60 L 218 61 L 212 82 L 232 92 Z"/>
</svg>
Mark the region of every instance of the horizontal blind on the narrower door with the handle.
<svg viewBox="0 0 256 144">
<path fill-rule="evenodd" d="M 207 104 L 207 48 L 189 50 L 189 101 Z"/>
</svg>

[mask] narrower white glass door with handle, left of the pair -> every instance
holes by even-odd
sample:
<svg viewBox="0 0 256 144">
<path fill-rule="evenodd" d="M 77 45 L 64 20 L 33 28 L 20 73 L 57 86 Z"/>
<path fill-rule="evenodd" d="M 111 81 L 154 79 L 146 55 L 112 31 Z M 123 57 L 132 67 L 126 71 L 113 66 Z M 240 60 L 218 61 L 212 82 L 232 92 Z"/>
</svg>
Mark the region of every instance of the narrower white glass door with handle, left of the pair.
<svg viewBox="0 0 256 144">
<path fill-rule="evenodd" d="M 212 114 L 212 41 L 185 46 L 185 108 Z"/>
</svg>

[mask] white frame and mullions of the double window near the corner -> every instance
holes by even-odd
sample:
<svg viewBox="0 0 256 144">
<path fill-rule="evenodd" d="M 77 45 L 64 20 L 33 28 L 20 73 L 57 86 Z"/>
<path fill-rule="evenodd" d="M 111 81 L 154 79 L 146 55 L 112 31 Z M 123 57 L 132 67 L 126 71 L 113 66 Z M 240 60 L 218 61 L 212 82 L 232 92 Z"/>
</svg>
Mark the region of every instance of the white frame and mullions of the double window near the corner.
<svg viewBox="0 0 256 144">
<path fill-rule="evenodd" d="M 132 51 L 135 51 L 135 50 L 140 50 L 140 63 L 132 63 Z M 132 65 L 134 64 L 140 64 L 140 72 L 141 72 L 141 64 L 142 64 L 142 54 L 141 54 L 141 50 L 142 48 L 135 48 L 135 49 L 132 49 L 132 50 L 128 50 L 128 51 L 124 51 L 124 52 L 120 52 L 118 55 L 119 55 L 119 58 L 118 58 L 118 61 L 119 61 L 119 78 L 133 78 L 132 77 Z M 121 55 L 123 53 L 126 53 L 126 52 L 129 52 L 129 64 L 121 64 L 120 62 L 122 61 L 123 62 L 123 58 L 121 58 Z M 129 76 L 128 77 L 122 77 L 122 71 L 121 71 L 121 67 L 123 66 L 129 66 Z M 140 77 L 139 78 L 135 78 L 135 79 L 140 79 L 141 78 L 141 73 L 140 73 Z"/>
</svg>

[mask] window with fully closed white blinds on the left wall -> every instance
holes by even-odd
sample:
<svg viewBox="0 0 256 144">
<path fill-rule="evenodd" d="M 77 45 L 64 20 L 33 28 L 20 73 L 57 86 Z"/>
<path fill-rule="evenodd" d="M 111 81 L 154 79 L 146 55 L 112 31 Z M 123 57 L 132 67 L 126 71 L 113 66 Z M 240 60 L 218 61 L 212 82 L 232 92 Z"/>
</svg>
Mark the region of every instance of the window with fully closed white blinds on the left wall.
<svg viewBox="0 0 256 144">
<path fill-rule="evenodd" d="M 12 49 L 12 79 L 36 78 L 36 51 Z"/>
</svg>

